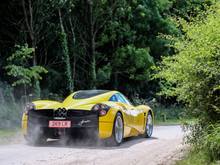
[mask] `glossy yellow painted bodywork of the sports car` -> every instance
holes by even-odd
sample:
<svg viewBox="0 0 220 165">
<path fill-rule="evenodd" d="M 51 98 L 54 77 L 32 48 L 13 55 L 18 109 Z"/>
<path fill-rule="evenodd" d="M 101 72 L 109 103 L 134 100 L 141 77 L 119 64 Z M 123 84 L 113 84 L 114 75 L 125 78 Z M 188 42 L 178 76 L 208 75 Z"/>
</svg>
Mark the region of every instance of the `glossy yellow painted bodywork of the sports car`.
<svg viewBox="0 0 220 165">
<path fill-rule="evenodd" d="M 99 117 L 99 138 L 109 138 L 112 136 L 113 123 L 117 113 L 121 113 L 124 121 L 124 137 L 137 136 L 143 134 L 145 131 L 146 115 L 148 111 L 153 112 L 150 107 L 146 105 L 132 106 L 121 102 L 108 101 L 112 95 L 119 93 L 117 91 L 109 91 L 98 96 L 94 96 L 87 99 L 73 99 L 73 94 L 69 95 L 62 103 L 50 100 L 34 101 L 36 110 L 43 109 L 77 109 L 88 110 L 97 103 L 103 103 L 109 105 L 111 108 L 105 116 Z M 24 135 L 27 133 L 28 115 L 23 114 L 22 117 L 22 132 Z"/>
</svg>

